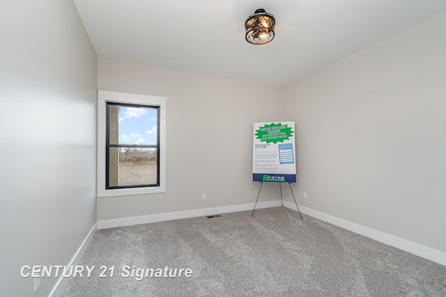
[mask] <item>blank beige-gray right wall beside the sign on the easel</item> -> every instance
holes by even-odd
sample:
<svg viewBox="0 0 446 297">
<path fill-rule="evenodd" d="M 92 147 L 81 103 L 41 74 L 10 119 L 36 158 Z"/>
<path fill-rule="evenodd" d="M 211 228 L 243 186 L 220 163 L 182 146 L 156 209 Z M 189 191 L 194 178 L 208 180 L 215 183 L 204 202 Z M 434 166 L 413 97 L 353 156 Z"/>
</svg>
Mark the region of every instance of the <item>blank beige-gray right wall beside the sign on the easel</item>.
<svg viewBox="0 0 446 297">
<path fill-rule="evenodd" d="M 446 252 L 446 13 L 286 88 L 305 207 Z"/>
</svg>

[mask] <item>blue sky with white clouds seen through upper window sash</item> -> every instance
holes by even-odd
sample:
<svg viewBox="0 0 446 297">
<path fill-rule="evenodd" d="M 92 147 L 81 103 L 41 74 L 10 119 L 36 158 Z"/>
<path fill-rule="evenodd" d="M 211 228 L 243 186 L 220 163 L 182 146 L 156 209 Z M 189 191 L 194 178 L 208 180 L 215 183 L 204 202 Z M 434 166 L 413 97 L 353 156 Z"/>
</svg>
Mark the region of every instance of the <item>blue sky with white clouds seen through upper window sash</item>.
<svg viewBox="0 0 446 297">
<path fill-rule="evenodd" d="M 155 145 L 157 110 L 121 106 L 119 110 L 119 143 Z"/>
</svg>

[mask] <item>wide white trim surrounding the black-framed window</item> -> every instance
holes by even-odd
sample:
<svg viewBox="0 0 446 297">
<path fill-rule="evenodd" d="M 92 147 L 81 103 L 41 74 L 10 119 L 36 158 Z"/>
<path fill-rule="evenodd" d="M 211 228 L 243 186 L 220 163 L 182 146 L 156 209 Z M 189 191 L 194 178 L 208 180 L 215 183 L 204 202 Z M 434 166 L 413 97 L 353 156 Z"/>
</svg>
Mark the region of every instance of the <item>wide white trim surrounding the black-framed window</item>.
<svg viewBox="0 0 446 297">
<path fill-rule="evenodd" d="M 166 192 L 166 99 L 167 97 L 98 90 L 98 198 Z M 160 127 L 157 127 L 157 131 L 160 134 L 160 186 L 148 186 L 142 188 L 105 188 L 105 130 L 107 125 L 107 102 L 160 106 Z"/>
</svg>

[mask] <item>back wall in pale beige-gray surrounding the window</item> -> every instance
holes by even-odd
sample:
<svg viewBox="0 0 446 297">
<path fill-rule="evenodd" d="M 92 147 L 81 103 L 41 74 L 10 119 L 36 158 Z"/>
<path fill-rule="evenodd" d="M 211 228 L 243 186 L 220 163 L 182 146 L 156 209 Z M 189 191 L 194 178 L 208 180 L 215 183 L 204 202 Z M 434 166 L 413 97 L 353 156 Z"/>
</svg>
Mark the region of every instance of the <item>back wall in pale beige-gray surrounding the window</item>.
<svg viewBox="0 0 446 297">
<path fill-rule="evenodd" d="M 255 202 L 253 122 L 284 120 L 282 88 L 107 58 L 98 88 L 168 97 L 166 193 L 98 198 L 98 220 Z M 279 190 L 262 195 L 277 200 Z"/>
</svg>

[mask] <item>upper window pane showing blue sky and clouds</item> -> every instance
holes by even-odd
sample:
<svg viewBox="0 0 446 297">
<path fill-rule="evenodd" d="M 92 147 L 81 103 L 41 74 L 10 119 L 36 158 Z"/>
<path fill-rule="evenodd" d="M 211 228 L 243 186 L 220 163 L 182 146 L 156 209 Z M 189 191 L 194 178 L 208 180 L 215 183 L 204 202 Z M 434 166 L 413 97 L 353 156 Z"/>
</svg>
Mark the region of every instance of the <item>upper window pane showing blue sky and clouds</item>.
<svg viewBox="0 0 446 297">
<path fill-rule="evenodd" d="M 109 106 L 109 141 L 111 145 L 156 145 L 157 108 Z"/>
</svg>

